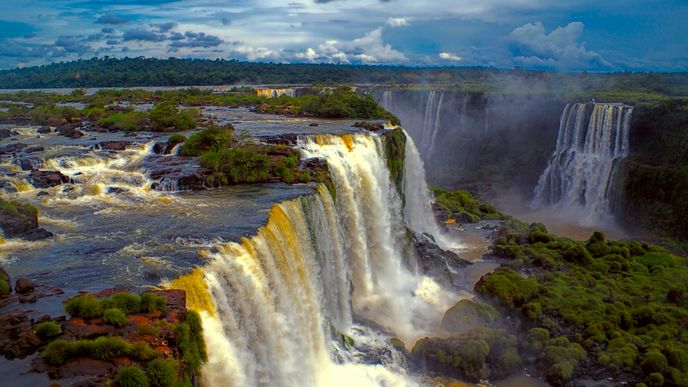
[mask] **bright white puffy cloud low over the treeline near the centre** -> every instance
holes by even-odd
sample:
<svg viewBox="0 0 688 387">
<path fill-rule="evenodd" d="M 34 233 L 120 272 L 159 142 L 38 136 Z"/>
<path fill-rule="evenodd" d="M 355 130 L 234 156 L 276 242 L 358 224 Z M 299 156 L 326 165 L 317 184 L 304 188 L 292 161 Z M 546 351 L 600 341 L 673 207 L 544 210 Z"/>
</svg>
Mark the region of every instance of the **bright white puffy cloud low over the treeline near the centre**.
<svg viewBox="0 0 688 387">
<path fill-rule="evenodd" d="M 295 54 L 294 58 L 329 63 L 398 63 L 408 60 L 404 54 L 383 42 L 382 28 L 376 28 L 351 41 L 325 41 L 317 48 L 309 47 L 305 52 Z"/>
</svg>

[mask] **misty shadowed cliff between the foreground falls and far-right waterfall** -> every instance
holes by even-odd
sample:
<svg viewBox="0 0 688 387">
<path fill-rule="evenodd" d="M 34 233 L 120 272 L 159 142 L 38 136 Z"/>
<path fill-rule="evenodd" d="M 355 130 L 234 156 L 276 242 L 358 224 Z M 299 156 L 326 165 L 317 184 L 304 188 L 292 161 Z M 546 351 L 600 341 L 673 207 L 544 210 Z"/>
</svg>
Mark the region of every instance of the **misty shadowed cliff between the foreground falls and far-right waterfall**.
<svg viewBox="0 0 688 387">
<path fill-rule="evenodd" d="M 388 90 L 376 96 L 418 144 L 429 182 L 527 202 L 565 102 L 550 95 Z"/>
</svg>

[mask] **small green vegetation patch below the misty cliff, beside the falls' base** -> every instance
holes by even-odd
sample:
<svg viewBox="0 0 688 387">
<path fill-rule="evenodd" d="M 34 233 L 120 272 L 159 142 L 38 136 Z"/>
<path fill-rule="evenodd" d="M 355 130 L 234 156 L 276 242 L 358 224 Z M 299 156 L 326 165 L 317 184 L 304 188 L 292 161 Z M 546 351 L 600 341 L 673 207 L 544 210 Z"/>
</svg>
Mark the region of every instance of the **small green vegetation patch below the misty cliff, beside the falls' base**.
<svg viewBox="0 0 688 387">
<path fill-rule="evenodd" d="M 475 223 L 481 220 L 504 219 L 499 211 L 489 204 L 480 203 L 468 191 L 450 192 L 441 188 L 432 188 L 435 203 L 448 218 L 461 222 Z"/>
</svg>

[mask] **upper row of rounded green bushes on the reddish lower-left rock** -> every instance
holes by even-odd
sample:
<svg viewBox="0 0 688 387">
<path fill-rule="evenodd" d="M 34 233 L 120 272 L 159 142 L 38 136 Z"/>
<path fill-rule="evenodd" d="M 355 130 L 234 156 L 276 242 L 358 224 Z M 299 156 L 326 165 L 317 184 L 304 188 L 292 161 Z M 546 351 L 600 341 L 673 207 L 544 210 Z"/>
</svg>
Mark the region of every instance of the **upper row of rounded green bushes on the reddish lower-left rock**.
<svg viewBox="0 0 688 387">
<path fill-rule="evenodd" d="M 153 312 L 166 310 L 165 299 L 150 293 L 137 296 L 132 293 L 116 293 L 102 300 L 93 295 L 83 294 L 76 296 L 65 303 L 65 311 L 72 317 L 81 317 L 86 320 L 104 316 L 109 309 L 116 309 L 125 316 L 139 312 Z M 110 317 L 117 319 L 117 312 L 110 311 Z M 121 319 L 120 319 L 121 321 Z M 116 324 L 112 324 L 116 325 Z"/>
</svg>

